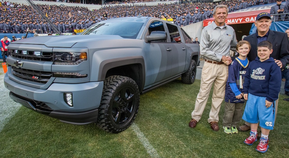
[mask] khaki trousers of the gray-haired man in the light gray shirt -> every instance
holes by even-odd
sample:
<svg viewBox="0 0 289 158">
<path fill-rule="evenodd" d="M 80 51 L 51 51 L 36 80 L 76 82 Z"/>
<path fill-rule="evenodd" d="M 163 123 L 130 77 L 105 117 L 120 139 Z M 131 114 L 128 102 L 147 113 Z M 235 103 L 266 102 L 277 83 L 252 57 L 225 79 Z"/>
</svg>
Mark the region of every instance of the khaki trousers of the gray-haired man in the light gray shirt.
<svg viewBox="0 0 289 158">
<path fill-rule="evenodd" d="M 192 112 L 192 118 L 199 121 L 207 104 L 212 84 L 214 90 L 212 95 L 212 108 L 209 114 L 208 122 L 219 121 L 219 111 L 222 101 L 225 97 L 225 87 L 228 78 L 228 66 L 225 64 L 217 65 L 205 62 L 202 75 L 200 91 L 196 99 L 195 108 Z"/>
</svg>

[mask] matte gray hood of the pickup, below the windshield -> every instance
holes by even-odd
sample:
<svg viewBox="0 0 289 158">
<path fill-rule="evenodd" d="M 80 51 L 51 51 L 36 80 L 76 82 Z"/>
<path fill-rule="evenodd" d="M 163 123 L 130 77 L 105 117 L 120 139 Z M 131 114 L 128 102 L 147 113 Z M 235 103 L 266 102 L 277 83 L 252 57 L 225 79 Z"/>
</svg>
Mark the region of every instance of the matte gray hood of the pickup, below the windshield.
<svg viewBox="0 0 289 158">
<path fill-rule="evenodd" d="M 21 39 L 13 44 L 40 44 L 47 47 L 71 48 L 77 42 L 122 39 L 118 35 L 59 35 L 59 36 L 38 36 Z"/>
</svg>

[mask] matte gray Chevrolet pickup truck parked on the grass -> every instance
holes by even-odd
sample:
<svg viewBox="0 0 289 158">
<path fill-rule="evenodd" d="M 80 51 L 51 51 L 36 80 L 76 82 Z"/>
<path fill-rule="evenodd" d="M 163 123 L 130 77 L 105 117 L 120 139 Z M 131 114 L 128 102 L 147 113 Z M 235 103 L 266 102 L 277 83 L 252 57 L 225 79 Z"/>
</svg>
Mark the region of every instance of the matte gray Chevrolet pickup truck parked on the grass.
<svg viewBox="0 0 289 158">
<path fill-rule="evenodd" d="M 199 44 L 152 17 L 104 20 L 81 35 L 12 42 L 4 84 L 23 106 L 65 123 L 110 133 L 136 118 L 140 94 L 181 77 L 192 84 Z"/>
</svg>

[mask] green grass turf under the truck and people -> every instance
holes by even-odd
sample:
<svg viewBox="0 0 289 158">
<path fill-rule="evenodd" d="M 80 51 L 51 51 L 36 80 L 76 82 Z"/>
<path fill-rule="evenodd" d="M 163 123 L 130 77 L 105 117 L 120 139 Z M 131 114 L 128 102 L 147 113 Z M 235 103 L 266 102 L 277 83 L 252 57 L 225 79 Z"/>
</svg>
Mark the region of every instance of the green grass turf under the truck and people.
<svg viewBox="0 0 289 158">
<path fill-rule="evenodd" d="M 222 130 L 224 104 L 219 113 L 219 131 L 207 121 L 211 95 L 196 128 L 188 127 L 200 80 L 182 84 L 175 80 L 140 97 L 134 123 L 160 157 L 288 157 L 288 102 L 280 95 L 275 129 L 269 134 L 266 153 L 243 143 L 248 132 L 229 135 Z M 242 125 L 241 121 L 239 125 Z M 150 157 L 130 127 L 110 134 L 95 124 L 71 125 L 21 107 L 0 133 L 0 157 Z"/>
</svg>

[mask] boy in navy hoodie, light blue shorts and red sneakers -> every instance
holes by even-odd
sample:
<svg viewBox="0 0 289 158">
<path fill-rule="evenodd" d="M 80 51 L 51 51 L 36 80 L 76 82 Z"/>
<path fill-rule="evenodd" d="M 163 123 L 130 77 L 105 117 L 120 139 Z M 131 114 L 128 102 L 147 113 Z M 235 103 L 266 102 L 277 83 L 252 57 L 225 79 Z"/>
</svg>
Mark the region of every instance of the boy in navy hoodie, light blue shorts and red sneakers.
<svg viewBox="0 0 289 158">
<path fill-rule="evenodd" d="M 261 138 L 256 151 L 265 153 L 268 149 L 268 135 L 274 127 L 275 100 L 281 87 L 280 67 L 270 57 L 273 52 L 269 41 L 260 42 L 257 45 L 257 55 L 251 61 L 245 74 L 244 99 L 248 100 L 243 120 L 251 123 L 250 136 L 244 143 L 253 145 L 257 141 L 257 127 L 260 122 Z"/>
</svg>

